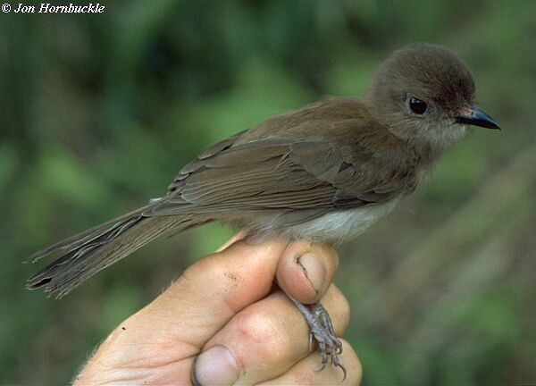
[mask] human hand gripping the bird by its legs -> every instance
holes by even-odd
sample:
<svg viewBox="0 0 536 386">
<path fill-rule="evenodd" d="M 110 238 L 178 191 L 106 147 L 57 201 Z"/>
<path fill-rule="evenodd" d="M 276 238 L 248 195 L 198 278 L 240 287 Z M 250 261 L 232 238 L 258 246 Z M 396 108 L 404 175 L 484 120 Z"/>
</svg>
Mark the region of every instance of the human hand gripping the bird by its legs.
<svg viewBox="0 0 536 386">
<path fill-rule="evenodd" d="M 339 384 L 340 369 L 315 371 L 321 358 L 306 321 L 282 292 L 305 304 L 322 298 L 341 336 L 349 307 L 331 284 L 337 254 L 304 241 L 252 244 L 232 240 L 190 266 L 112 332 L 74 384 Z M 342 342 L 342 384 L 359 383 L 361 364 Z"/>
</svg>

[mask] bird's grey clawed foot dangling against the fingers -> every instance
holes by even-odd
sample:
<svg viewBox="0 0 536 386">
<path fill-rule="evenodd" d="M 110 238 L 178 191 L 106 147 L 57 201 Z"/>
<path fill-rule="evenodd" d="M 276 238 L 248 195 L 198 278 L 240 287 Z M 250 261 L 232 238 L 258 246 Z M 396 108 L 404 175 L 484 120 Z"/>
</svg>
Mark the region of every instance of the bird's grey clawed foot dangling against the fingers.
<svg viewBox="0 0 536 386">
<path fill-rule="evenodd" d="M 316 303 L 313 306 L 306 306 L 298 302 L 295 298 L 289 298 L 297 306 L 297 309 L 302 315 L 305 316 L 306 322 L 309 325 L 309 349 L 311 349 L 313 341 L 316 341 L 318 345 L 322 361 L 321 367 L 317 371 L 325 369 L 331 358 L 331 365 L 340 367 L 342 370 L 342 381 L 344 382 L 347 372 L 339 360 L 339 354 L 342 352 L 342 343 L 333 330 L 330 315 L 320 303 Z"/>
</svg>

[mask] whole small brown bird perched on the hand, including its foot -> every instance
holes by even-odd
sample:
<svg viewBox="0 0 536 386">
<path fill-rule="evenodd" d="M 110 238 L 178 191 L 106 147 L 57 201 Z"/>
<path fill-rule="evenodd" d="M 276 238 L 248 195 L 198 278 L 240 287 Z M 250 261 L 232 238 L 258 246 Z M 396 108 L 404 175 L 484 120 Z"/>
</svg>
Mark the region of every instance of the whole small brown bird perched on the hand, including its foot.
<svg viewBox="0 0 536 386">
<path fill-rule="evenodd" d="M 325 99 L 226 139 L 183 167 L 164 197 L 31 256 L 59 255 L 28 288 L 61 298 L 163 232 L 205 222 L 289 240 L 353 238 L 421 185 L 469 125 L 499 128 L 474 93 L 471 72 L 447 48 L 396 51 L 362 98 Z M 322 306 L 297 306 L 322 368 L 331 357 L 344 371 Z"/>
</svg>

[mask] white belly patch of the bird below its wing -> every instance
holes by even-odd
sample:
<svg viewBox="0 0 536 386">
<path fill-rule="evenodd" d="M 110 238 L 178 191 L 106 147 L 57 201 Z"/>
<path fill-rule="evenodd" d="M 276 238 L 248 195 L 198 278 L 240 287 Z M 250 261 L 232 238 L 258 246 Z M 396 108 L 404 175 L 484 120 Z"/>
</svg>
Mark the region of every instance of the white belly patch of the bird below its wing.
<svg viewBox="0 0 536 386">
<path fill-rule="evenodd" d="M 333 242 L 352 239 L 362 233 L 382 216 L 388 214 L 398 203 L 394 199 L 385 204 L 339 210 L 322 217 L 290 227 L 285 231 L 293 239 Z"/>
</svg>

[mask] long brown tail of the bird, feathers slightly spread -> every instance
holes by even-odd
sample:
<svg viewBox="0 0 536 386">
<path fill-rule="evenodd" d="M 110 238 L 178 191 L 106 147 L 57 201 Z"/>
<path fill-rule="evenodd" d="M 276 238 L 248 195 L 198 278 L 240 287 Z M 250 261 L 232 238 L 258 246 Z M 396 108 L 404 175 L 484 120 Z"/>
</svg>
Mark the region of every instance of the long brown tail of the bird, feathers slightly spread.
<svg viewBox="0 0 536 386">
<path fill-rule="evenodd" d="M 149 207 L 97 225 L 29 257 L 29 262 L 34 263 L 50 254 L 59 255 L 53 263 L 29 278 L 27 288 L 44 288 L 56 298 L 62 298 L 81 282 L 130 255 L 163 232 L 184 230 L 197 224 L 189 214 L 145 216 L 144 212 Z"/>
</svg>

